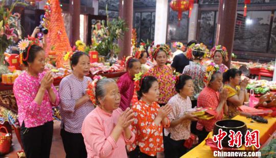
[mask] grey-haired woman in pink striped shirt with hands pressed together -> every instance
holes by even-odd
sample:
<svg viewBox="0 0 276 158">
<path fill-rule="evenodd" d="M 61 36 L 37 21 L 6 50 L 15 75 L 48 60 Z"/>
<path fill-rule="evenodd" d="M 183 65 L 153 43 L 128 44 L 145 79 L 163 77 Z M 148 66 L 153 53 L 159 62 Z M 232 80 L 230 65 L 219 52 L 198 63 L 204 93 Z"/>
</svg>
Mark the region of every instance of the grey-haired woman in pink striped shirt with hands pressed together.
<svg viewBox="0 0 276 158">
<path fill-rule="evenodd" d="M 126 145 L 132 144 L 133 111 L 119 108 L 121 95 L 113 79 L 94 79 L 95 103 L 82 124 L 87 157 L 127 157 Z M 92 99 L 93 101 L 93 99 Z"/>
</svg>

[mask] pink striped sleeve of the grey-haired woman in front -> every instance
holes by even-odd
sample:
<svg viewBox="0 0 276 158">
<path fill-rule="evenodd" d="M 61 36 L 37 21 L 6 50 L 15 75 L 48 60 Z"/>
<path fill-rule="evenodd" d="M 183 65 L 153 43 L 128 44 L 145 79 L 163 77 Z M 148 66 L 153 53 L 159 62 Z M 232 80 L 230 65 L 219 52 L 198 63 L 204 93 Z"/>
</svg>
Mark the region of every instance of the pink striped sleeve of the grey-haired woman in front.
<svg viewBox="0 0 276 158">
<path fill-rule="evenodd" d="M 104 127 L 101 126 L 100 120 L 91 117 L 83 122 L 83 138 L 99 157 L 109 157 L 113 150 L 118 146 L 115 140 L 109 136 L 105 137 Z"/>
</svg>

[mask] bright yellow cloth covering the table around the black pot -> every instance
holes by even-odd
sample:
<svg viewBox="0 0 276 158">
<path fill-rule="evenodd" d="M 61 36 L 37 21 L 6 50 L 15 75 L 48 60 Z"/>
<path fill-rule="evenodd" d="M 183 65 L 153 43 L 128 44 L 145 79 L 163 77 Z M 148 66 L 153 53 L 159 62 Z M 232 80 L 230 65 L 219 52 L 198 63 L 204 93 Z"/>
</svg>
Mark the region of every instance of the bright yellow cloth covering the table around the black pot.
<svg viewBox="0 0 276 158">
<path fill-rule="evenodd" d="M 239 120 L 243 121 L 247 128 L 251 128 L 253 130 L 257 129 L 260 131 L 260 144 L 264 144 L 270 137 L 270 135 L 276 130 L 276 118 L 269 118 L 265 117 L 267 119 L 268 123 L 258 123 L 255 122 L 251 123 L 250 121 L 252 119 L 247 119 L 244 116 L 236 116 L 233 118 L 233 120 Z M 206 137 L 206 139 L 212 138 L 212 132 L 209 133 L 209 135 Z M 244 150 L 244 146 L 239 148 L 240 150 Z M 207 145 L 205 145 L 205 141 L 202 141 L 198 146 L 190 150 L 185 155 L 181 156 L 181 158 L 209 158 L 214 157 L 213 151 L 211 148 Z"/>
</svg>

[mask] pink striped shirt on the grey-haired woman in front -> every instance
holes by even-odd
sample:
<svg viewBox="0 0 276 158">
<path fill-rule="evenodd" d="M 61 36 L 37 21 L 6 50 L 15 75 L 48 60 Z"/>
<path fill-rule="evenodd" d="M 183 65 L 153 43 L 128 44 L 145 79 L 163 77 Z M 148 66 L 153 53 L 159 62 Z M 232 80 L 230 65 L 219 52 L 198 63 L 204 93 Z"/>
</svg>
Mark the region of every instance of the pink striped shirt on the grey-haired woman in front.
<svg viewBox="0 0 276 158">
<path fill-rule="evenodd" d="M 82 136 L 88 158 L 127 157 L 126 145 L 133 143 L 135 139 L 134 133 L 131 132 L 131 138 L 126 139 L 123 132 L 117 143 L 110 136 L 122 112 L 121 108 L 117 108 L 109 114 L 97 106 L 86 116 L 82 124 Z"/>
</svg>

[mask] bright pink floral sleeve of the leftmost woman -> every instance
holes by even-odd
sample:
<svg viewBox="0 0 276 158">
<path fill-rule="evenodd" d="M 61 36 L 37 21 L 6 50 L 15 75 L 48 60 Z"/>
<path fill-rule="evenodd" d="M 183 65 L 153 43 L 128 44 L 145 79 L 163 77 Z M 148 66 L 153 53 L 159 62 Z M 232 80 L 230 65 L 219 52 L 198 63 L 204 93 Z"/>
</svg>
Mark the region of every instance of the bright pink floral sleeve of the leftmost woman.
<svg viewBox="0 0 276 158">
<path fill-rule="evenodd" d="M 17 81 L 13 85 L 13 94 L 16 99 L 18 108 L 22 111 L 26 111 L 26 115 L 34 115 L 40 110 L 40 105 L 33 99 L 31 92 L 28 91 L 28 87 L 25 84 Z M 44 100 L 42 101 L 44 102 Z M 41 102 L 41 104 L 42 104 Z"/>
</svg>

